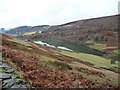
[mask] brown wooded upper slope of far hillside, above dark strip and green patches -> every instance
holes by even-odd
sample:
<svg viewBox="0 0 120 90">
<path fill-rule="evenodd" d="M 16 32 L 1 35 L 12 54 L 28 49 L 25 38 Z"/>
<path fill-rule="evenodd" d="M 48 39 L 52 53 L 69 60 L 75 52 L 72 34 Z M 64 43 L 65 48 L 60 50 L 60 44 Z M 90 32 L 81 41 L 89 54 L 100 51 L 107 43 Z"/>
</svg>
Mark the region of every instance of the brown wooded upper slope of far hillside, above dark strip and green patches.
<svg viewBox="0 0 120 90">
<path fill-rule="evenodd" d="M 118 16 L 120 15 L 49 26 L 40 34 L 23 37 L 31 40 L 56 39 L 80 44 L 94 40 L 98 43 L 105 43 L 107 46 L 118 46 Z"/>
</svg>

